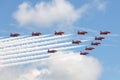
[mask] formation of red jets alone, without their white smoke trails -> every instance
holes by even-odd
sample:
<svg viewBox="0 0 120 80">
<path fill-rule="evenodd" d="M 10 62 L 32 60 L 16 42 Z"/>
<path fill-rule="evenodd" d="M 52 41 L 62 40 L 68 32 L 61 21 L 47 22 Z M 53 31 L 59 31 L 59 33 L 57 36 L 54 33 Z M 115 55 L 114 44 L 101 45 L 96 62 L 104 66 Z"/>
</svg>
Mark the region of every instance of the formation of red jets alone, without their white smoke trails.
<svg viewBox="0 0 120 80">
<path fill-rule="evenodd" d="M 78 31 L 77 32 L 77 34 L 78 35 L 85 35 L 85 34 L 87 34 L 88 32 L 87 31 Z M 32 32 L 32 36 L 40 36 L 42 33 L 40 33 L 40 32 Z M 54 33 L 55 35 L 63 35 L 63 34 L 65 34 L 65 32 L 62 32 L 62 31 L 58 31 L 58 32 L 56 32 L 55 31 L 55 33 Z M 100 31 L 100 33 L 99 33 L 100 35 L 108 35 L 108 34 L 110 34 L 110 32 L 109 31 Z M 20 34 L 19 33 L 11 33 L 10 34 L 10 37 L 18 37 L 18 36 L 20 36 Z M 95 37 L 95 40 L 103 40 L 103 39 L 105 39 L 105 37 L 102 37 L 102 36 L 97 36 L 97 37 Z M 80 41 L 80 40 L 72 40 L 72 44 L 80 44 L 80 43 L 82 43 L 82 41 Z M 99 44 L 101 44 L 100 42 L 92 42 L 91 43 L 91 45 L 92 46 L 98 46 Z M 86 47 L 85 48 L 85 50 L 93 50 L 93 49 L 95 49 L 94 47 Z M 48 50 L 48 53 L 55 53 L 55 52 L 57 52 L 57 50 Z M 88 52 L 81 52 L 80 53 L 80 55 L 87 55 L 87 54 L 89 54 Z"/>
</svg>

